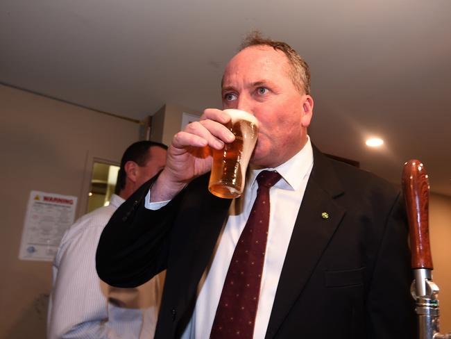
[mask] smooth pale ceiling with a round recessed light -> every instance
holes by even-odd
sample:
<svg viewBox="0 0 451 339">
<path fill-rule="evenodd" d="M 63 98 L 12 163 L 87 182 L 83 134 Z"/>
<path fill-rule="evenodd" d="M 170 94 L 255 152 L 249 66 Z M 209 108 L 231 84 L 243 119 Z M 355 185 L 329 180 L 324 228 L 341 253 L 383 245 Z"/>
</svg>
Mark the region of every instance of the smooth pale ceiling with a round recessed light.
<svg viewBox="0 0 451 339">
<path fill-rule="evenodd" d="M 0 83 L 133 119 L 202 111 L 257 29 L 309 63 L 321 150 L 393 183 L 419 158 L 451 196 L 450 15 L 450 0 L 2 0 Z"/>
</svg>

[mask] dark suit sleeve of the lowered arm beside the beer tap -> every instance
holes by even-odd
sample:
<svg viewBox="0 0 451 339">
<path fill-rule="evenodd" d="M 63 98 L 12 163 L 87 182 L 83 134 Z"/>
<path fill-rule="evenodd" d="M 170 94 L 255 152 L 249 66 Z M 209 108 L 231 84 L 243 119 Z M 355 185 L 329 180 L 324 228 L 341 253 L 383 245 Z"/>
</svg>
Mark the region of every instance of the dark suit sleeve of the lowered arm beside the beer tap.
<svg viewBox="0 0 451 339">
<path fill-rule="evenodd" d="M 368 291 L 368 338 L 417 338 L 407 235 L 404 203 L 398 195 L 386 220 Z"/>
</svg>

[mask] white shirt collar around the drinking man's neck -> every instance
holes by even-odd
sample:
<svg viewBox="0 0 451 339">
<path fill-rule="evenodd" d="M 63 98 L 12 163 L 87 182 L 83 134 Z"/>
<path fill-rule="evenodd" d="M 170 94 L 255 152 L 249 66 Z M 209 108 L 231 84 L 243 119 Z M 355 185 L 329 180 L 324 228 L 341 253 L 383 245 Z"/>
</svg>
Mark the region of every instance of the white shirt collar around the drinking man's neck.
<svg viewBox="0 0 451 339">
<path fill-rule="evenodd" d="M 305 175 L 309 173 L 309 170 L 313 165 L 313 149 L 310 138 L 307 135 L 307 142 L 304 147 L 298 151 L 291 159 L 282 163 L 275 168 L 253 168 L 250 165 L 250 171 L 248 172 L 248 188 L 252 189 L 255 185 L 255 179 L 259 172 L 263 170 L 277 171 L 283 180 L 280 180 L 275 184 L 275 187 L 282 188 L 284 190 L 298 190 L 300 184 L 303 181 Z"/>
</svg>

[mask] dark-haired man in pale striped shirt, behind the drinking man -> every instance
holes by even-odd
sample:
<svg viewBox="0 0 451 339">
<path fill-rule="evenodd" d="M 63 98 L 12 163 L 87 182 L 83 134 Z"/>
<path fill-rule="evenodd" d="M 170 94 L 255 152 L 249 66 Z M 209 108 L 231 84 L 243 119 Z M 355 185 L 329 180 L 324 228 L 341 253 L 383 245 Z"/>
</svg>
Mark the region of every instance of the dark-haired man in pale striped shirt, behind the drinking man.
<svg viewBox="0 0 451 339">
<path fill-rule="evenodd" d="M 162 276 L 139 288 L 113 288 L 96 273 L 96 247 L 114 211 L 166 163 L 167 146 L 139 141 L 124 152 L 110 204 L 81 217 L 53 262 L 47 338 L 153 338 Z"/>
</svg>

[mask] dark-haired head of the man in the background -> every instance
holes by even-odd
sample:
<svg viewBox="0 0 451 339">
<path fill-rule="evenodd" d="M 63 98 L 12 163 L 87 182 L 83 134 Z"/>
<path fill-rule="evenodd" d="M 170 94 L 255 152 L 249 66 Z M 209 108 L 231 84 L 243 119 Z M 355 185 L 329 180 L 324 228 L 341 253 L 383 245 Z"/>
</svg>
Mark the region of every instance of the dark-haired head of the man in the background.
<svg viewBox="0 0 451 339">
<path fill-rule="evenodd" d="M 127 199 L 166 164 L 167 146 L 148 140 L 131 144 L 121 159 L 115 193 Z"/>
</svg>

